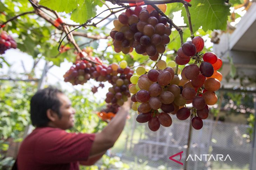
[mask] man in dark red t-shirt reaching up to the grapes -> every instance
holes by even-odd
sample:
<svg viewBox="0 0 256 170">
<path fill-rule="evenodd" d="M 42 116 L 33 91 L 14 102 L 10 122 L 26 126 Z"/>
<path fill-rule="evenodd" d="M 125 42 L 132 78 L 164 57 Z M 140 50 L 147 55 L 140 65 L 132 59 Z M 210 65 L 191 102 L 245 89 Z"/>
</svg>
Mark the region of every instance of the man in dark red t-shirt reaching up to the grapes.
<svg viewBox="0 0 256 170">
<path fill-rule="evenodd" d="M 21 144 L 18 170 L 78 170 L 79 163 L 93 165 L 113 147 L 130 109 L 129 103 L 124 103 L 102 132 L 82 134 L 65 131 L 74 126 L 75 109 L 60 90 L 49 87 L 38 91 L 30 106 L 36 128 Z"/>
</svg>

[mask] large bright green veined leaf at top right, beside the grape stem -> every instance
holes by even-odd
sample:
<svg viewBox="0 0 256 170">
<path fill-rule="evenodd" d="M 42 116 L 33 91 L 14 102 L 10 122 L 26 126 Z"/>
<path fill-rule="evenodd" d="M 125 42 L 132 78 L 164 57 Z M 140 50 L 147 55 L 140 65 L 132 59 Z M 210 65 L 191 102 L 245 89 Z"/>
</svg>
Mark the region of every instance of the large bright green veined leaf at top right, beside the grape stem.
<svg viewBox="0 0 256 170">
<path fill-rule="evenodd" d="M 202 26 L 204 31 L 220 29 L 225 30 L 227 27 L 229 7 L 223 0 L 193 0 L 192 7 L 189 7 L 193 31 Z M 184 22 L 188 25 L 186 9 L 182 9 Z"/>
</svg>

